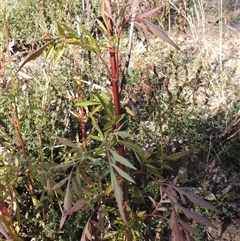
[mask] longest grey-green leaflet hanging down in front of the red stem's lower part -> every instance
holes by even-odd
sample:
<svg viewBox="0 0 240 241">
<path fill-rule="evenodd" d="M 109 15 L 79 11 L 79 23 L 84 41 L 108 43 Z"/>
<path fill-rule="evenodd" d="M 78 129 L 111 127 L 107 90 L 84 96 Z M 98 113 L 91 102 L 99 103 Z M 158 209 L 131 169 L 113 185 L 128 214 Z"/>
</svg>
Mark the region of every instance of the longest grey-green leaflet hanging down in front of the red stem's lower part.
<svg viewBox="0 0 240 241">
<path fill-rule="evenodd" d="M 119 213 L 120 213 L 124 223 L 127 224 L 127 220 L 126 220 L 125 213 L 123 210 L 123 192 L 122 192 L 120 185 L 118 184 L 117 178 L 115 176 L 115 173 L 114 173 L 111 165 L 110 165 L 110 174 L 111 174 L 111 183 L 113 186 L 114 195 L 115 195 L 115 198 L 117 201 Z"/>
</svg>

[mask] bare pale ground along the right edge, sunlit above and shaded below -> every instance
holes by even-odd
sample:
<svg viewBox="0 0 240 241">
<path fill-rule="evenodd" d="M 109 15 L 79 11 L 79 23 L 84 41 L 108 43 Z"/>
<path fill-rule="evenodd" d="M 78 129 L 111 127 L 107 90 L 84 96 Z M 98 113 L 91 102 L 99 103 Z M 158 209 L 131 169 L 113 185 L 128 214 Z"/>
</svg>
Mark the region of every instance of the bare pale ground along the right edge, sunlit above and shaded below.
<svg viewBox="0 0 240 241">
<path fill-rule="evenodd" d="M 221 31 L 219 31 L 219 21 L 221 21 L 218 14 L 219 1 L 206 2 L 208 7 L 203 19 L 204 26 L 201 23 L 196 26 L 196 22 L 189 20 L 190 27 L 186 29 L 186 35 L 181 35 L 179 32 L 175 34 L 174 31 L 170 32 L 170 35 L 181 46 L 181 50 L 188 52 L 192 59 L 200 58 L 205 64 L 212 62 L 215 66 L 211 70 L 210 79 L 205 76 L 205 80 L 210 83 L 206 88 L 212 87 L 207 90 L 209 95 L 207 112 L 219 115 L 221 110 L 224 111 L 230 104 L 237 104 L 240 101 L 240 1 L 223 1 Z M 147 57 L 146 62 L 148 62 Z M 216 71 L 216 66 L 219 68 L 220 65 L 222 69 L 220 68 L 220 72 Z M 225 81 L 225 86 L 222 85 L 220 88 L 213 86 L 220 79 L 221 84 Z M 202 103 L 198 106 L 201 108 Z M 206 111 L 206 107 L 204 108 Z M 225 148 L 224 145 L 231 146 L 236 152 L 235 159 L 229 158 L 225 166 L 221 166 L 221 160 L 215 158 L 203 156 L 199 160 L 199 157 L 193 157 L 187 167 L 188 171 L 204 173 L 199 186 L 207 187 L 205 198 L 218 206 L 222 212 L 212 218 L 217 230 L 206 228 L 205 237 L 197 240 L 240 241 L 240 112 L 238 115 L 237 110 L 234 111 L 235 119 L 233 118 L 225 133 L 221 135 L 225 136 L 222 148 Z M 224 191 L 226 192 L 222 193 Z"/>
</svg>

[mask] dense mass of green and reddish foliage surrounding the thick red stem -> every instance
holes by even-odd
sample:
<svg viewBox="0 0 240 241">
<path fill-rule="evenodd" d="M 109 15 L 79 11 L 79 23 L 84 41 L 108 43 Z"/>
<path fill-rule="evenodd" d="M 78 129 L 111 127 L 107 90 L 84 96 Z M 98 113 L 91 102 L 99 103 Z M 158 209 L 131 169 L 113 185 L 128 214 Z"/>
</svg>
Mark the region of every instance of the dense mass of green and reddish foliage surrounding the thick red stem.
<svg viewBox="0 0 240 241">
<path fill-rule="evenodd" d="M 146 122 L 130 107 L 118 115 L 115 98 L 102 83 L 102 77 L 112 71 L 106 57 L 109 48 L 116 48 L 120 53 L 124 34 L 121 21 L 115 22 L 115 32 L 110 36 L 110 21 L 104 12 L 106 1 L 102 1 L 103 22 L 97 19 L 95 23 L 101 36 L 96 38 L 90 30 L 93 23 L 75 21 L 81 11 L 74 10 L 77 1 L 73 2 L 68 5 L 58 1 L 55 6 L 55 2 L 50 1 L 44 6 L 39 25 L 54 37 L 47 38 L 47 43 L 25 58 L 20 67 L 9 68 L 9 87 L 1 88 L 0 147 L 4 150 L 0 159 L 0 188 L 4 194 L 0 201 L 4 200 L 10 209 L 1 219 L 6 234 L 2 230 L 1 233 L 13 240 L 91 240 L 92 237 L 143 240 L 147 236 L 154 240 L 161 222 L 165 230 L 172 229 L 174 240 L 190 240 L 191 234 L 199 235 L 199 231 L 189 225 L 191 221 L 215 228 L 198 213 L 209 217 L 206 209 L 216 213 L 218 210 L 190 189 L 179 187 L 177 179 L 169 182 L 169 177 L 177 174 L 174 170 L 177 161 L 193 153 L 189 148 L 169 150 L 171 139 L 186 138 L 186 146 L 194 144 L 200 148 L 197 141 L 191 139 L 197 129 L 192 127 L 201 126 L 196 124 L 199 119 L 193 120 L 191 111 L 186 110 L 188 97 L 182 89 L 187 81 L 179 84 L 176 67 L 179 54 L 164 59 L 166 68 L 173 70 L 175 91 L 167 81 L 164 86 L 159 84 L 156 76 L 143 83 L 144 71 L 138 66 L 130 69 L 127 88 L 135 88 L 137 95 L 142 93 L 141 88 L 146 90 L 142 106 L 150 113 L 145 117 Z M 19 10 L 19 6 L 7 7 Z M 123 12 L 129 20 L 131 14 L 127 13 L 127 7 Z M 36 27 L 29 18 L 38 11 L 37 4 L 27 5 L 23 1 L 18 17 L 7 16 L 10 36 L 17 33 L 18 38 L 33 38 Z M 23 19 L 24 13 L 28 14 L 26 19 Z M 160 27 L 145 19 L 150 13 L 138 15 L 144 34 L 155 33 L 178 49 Z M 120 17 L 124 20 L 124 16 Z M 67 23 L 63 23 L 65 18 Z M 26 20 L 31 24 L 22 33 L 11 22 L 19 21 L 21 26 Z M 44 57 L 40 60 L 44 66 L 38 63 L 41 57 Z M 77 68 L 79 57 L 83 61 L 80 70 Z M 32 82 L 26 95 L 15 76 L 31 63 L 37 67 L 31 69 Z M 92 90 L 93 83 L 101 87 L 99 91 Z M 10 108 L 11 104 L 14 108 Z M 154 123 L 153 128 L 149 123 Z M 16 145 L 19 133 L 26 155 Z M 141 148 L 141 144 L 148 141 L 156 142 L 156 150 Z M 125 155 L 119 151 L 120 147 L 125 148 Z M 204 144 L 201 148 L 205 148 Z M 203 208 L 189 210 L 189 202 Z"/>
</svg>

